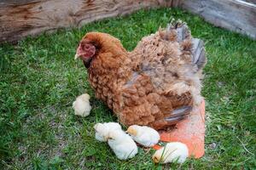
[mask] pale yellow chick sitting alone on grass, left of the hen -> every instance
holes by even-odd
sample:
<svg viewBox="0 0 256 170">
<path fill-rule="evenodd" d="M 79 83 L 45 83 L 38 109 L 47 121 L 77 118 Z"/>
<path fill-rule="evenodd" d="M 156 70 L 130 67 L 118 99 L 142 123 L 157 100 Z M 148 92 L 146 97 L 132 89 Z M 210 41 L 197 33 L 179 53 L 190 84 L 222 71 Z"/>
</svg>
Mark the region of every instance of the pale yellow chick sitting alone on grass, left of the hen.
<svg viewBox="0 0 256 170">
<path fill-rule="evenodd" d="M 90 115 L 90 95 L 82 94 L 73 102 L 73 110 L 75 115 L 78 116 L 89 116 Z"/>
</svg>

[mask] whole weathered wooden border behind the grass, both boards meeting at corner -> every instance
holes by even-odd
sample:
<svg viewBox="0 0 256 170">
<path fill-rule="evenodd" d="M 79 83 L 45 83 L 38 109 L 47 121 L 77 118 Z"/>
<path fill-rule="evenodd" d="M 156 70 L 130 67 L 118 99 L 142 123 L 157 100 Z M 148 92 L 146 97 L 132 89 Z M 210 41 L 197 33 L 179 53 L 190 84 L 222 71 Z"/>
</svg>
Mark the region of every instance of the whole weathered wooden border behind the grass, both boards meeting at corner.
<svg viewBox="0 0 256 170">
<path fill-rule="evenodd" d="M 256 38 L 253 2 L 256 0 L 0 0 L 0 43 L 157 7 L 188 9 L 215 26 Z"/>
</svg>

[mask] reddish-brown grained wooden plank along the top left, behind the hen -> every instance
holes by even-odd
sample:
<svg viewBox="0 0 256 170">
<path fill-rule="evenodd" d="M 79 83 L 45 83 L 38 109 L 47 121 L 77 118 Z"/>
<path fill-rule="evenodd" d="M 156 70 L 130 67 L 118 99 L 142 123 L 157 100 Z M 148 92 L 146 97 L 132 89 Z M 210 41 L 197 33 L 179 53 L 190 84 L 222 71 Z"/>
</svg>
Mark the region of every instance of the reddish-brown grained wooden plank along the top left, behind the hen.
<svg viewBox="0 0 256 170">
<path fill-rule="evenodd" d="M 140 8 L 169 6 L 177 0 L 2 0 L 0 43 L 57 28 L 130 14 Z"/>
</svg>

